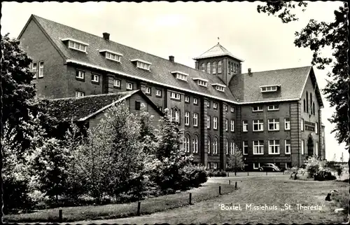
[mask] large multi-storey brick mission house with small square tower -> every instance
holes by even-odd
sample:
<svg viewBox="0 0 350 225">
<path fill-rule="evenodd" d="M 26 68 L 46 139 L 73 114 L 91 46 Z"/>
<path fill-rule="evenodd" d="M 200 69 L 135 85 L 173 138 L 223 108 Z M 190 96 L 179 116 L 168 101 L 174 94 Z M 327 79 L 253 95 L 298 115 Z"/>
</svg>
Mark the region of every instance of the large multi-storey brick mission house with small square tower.
<svg viewBox="0 0 350 225">
<path fill-rule="evenodd" d="M 234 144 L 246 169 L 301 165 L 325 158 L 323 102 L 312 67 L 242 73 L 220 43 L 195 57 L 195 69 L 31 15 L 18 39 L 33 59 L 42 97 L 82 97 L 141 90 L 171 110 L 195 160 L 225 169 Z"/>
</svg>

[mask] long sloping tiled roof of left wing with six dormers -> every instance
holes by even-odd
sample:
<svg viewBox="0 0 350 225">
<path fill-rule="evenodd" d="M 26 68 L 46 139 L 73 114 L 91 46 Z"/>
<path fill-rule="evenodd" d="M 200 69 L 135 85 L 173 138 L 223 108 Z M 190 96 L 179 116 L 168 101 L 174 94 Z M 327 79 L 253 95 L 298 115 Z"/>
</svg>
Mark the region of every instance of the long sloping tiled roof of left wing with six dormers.
<svg viewBox="0 0 350 225">
<path fill-rule="evenodd" d="M 169 60 L 145 53 L 141 50 L 124 46 L 114 41 L 106 41 L 102 36 L 96 36 L 86 32 L 82 32 L 78 29 L 68 27 L 66 25 L 53 22 L 40 18 L 36 15 L 31 15 L 29 20 L 33 19 L 39 27 L 43 30 L 45 35 L 52 40 L 57 49 L 62 55 L 64 55 L 67 63 L 80 64 L 85 67 L 92 67 L 103 71 L 108 71 L 112 74 L 120 74 L 122 76 L 128 76 L 133 79 L 139 79 L 141 81 L 155 83 L 174 90 L 188 91 L 198 95 L 206 95 L 219 100 L 225 100 L 228 102 L 236 102 L 235 97 L 230 90 L 225 89 L 225 92 L 218 92 L 213 87 L 208 87 L 205 90 L 193 81 L 192 78 L 202 78 L 209 81 L 209 83 L 221 83 L 223 81 L 217 76 L 211 76 L 204 71 L 187 67 L 183 64 L 176 62 L 170 62 Z M 113 35 L 113 34 L 112 34 Z M 82 53 L 77 50 L 71 50 L 67 48 L 62 39 L 71 38 L 89 43 L 87 47 L 87 53 Z M 123 54 L 120 59 L 120 63 L 106 60 L 106 58 L 99 53 L 99 50 L 112 50 L 114 52 Z M 151 69 L 139 69 L 130 60 L 140 59 L 146 62 L 151 62 Z M 188 76 L 188 82 L 180 81 L 171 73 L 171 71 L 183 71 Z"/>
</svg>

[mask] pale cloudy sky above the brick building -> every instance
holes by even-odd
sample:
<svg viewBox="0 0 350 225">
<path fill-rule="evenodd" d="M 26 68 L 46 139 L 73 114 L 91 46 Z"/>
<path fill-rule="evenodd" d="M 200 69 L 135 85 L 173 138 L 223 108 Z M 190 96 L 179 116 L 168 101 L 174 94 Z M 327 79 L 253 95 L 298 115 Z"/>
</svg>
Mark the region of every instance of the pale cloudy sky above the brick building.
<svg viewBox="0 0 350 225">
<path fill-rule="evenodd" d="M 300 32 L 310 19 L 334 21 L 334 11 L 342 6 L 341 1 L 308 2 L 307 10 L 294 10 L 299 20 L 283 24 L 279 18 L 258 13 L 255 2 L 87 2 L 58 3 L 3 2 L 1 35 L 10 33 L 17 38 L 31 14 L 102 36 L 125 46 L 137 48 L 153 55 L 168 58 L 174 55 L 175 62 L 195 67 L 197 57 L 220 41 L 233 55 L 244 60 L 242 72 L 265 71 L 311 65 L 311 50 L 297 48 L 293 41 L 295 32 Z M 219 38 L 219 40 L 218 40 Z M 329 49 L 324 55 L 331 55 Z M 331 67 L 315 74 L 319 88 L 324 88 Z M 322 122 L 325 125 L 326 158 L 336 156 L 344 161 L 349 154 L 345 144 L 337 144 L 335 127 L 330 118 L 335 109 L 323 95 Z"/>
</svg>

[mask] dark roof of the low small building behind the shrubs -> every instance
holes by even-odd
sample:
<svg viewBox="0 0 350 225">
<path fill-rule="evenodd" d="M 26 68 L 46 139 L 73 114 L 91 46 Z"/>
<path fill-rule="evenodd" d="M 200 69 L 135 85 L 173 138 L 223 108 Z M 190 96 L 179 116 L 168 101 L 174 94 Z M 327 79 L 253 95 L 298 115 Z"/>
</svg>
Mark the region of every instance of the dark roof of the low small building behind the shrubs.
<svg viewBox="0 0 350 225">
<path fill-rule="evenodd" d="M 65 97 L 48 100 L 49 114 L 57 118 L 58 121 L 86 121 L 88 118 L 101 113 L 113 104 L 126 100 L 135 93 L 140 93 L 146 98 L 148 103 L 151 103 L 151 100 L 141 90 L 104 95 L 88 95 L 85 97 Z M 162 112 L 153 103 L 151 103 L 151 106 L 162 115 Z"/>
</svg>

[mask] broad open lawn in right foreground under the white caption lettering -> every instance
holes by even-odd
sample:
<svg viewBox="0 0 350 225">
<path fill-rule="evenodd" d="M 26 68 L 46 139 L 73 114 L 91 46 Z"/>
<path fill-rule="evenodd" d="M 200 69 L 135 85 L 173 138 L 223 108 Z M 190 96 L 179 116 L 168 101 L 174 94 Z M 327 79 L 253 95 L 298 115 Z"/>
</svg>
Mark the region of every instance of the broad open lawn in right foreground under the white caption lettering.
<svg viewBox="0 0 350 225">
<path fill-rule="evenodd" d="M 345 182 L 315 182 L 289 179 L 288 175 L 282 176 L 255 176 L 255 177 L 213 177 L 209 183 L 228 184 L 231 179 L 233 186 L 237 181 L 238 190 L 205 200 L 194 205 L 186 205 L 165 212 L 130 217 L 123 219 L 77 221 L 78 224 L 330 224 L 346 221 L 346 215 L 342 212 L 335 213 L 339 202 L 337 196 L 332 196 L 332 201 L 325 201 L 327 193 L 333 189 L 339 190 L 339 195 L 347 193 L 348 184 Z M 240 204 L 241 210 L 221 210 L 219 204 Z M 246 204 L 255 206 L 273 206 L 276 210 L 250 210 Z M 290 205 L 290 210 L 282 210 L 284 205 Z M 304 206 L 319 206 L 317 210 L 312 208 L 297 208 L 297 204 Z"/>
</svg>

